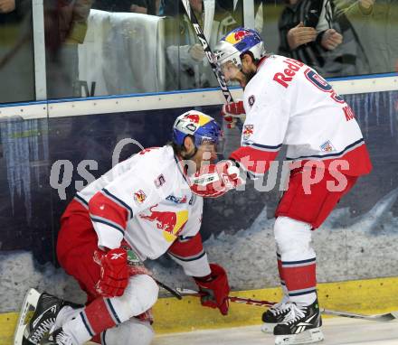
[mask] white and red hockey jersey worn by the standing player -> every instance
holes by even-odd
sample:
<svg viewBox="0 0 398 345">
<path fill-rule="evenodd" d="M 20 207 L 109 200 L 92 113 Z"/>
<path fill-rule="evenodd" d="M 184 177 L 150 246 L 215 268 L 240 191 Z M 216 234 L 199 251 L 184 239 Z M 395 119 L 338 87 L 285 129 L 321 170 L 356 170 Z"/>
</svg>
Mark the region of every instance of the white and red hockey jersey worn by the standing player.
<svg viewBox="0 0 398 345">
<path fill-rule="evenodd" d="M 243 104 L 242 147 L 232 158 L 251 173 L 265 173 L 264 161 L 275 159 L 281 145 L 288 145 L 288 160 L 322 160 L 325 166 L 346 160 L 349 168 L 343 173 L 370 172 L 352 109 L 304 63 L 279 55 L 264 58 L 244 89 Z"/>
</svg>

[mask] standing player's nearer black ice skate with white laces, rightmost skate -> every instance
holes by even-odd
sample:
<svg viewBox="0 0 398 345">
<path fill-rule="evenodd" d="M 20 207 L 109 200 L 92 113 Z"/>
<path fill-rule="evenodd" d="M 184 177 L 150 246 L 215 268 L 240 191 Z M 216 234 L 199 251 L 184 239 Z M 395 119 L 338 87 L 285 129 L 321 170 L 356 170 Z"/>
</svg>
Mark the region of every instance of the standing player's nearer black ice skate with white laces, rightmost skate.
<svg viewBox="0 0 398 345">
<path fill-rule="evenodd" d="M 275 345 L 307 344 L 324 339 L 317 301 L 308 306 L 291 303 L 283 322 L 274 328 Z"/>
</svg>

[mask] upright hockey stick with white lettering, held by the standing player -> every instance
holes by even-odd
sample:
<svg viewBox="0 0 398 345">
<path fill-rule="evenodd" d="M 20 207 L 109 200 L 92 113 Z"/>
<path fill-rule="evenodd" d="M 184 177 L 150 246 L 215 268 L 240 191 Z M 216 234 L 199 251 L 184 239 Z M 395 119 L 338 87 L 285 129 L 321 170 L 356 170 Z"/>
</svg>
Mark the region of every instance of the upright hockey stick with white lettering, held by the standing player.
<svg viewBox="0 0 398 345">
<path fill-rule="evenodd" d="M 225 98 L 225 102 L 232 103 L 233 98 L 231 95 L 230 89 L 228 89 L 227 83 L 225 81 L 225 77 L 223 75 L 223 71 L 220 69 L 220 66 L 217 62 L 214 61 L 213 51 L 210 49 L 209 42 L 207 42 L 206 37 L 204 36 L 204 31 L 201 28 L 201 25 L 197 21 L 196 15 L 194 15 L 194 11 L 189 4 L 189 0 L 182 0 L 183 5 L 185 7 L 186 15 L 188 16 L 189 20 L 191 21 L 192 25 L 194 26 L 194 32 L 196 33 L 199 42 L 201 42 L 202 47 L 204 48 L 204 53 L 206 55 L 207 60 L 212 67 L 213 73 L 215 78 L 220 85 L 221 90 L 223 91 L 223 97 Z M 204 4 L 203 4 L 204 5 Z M 242 127 L 242 120 L 240 117 L 233 117 L 233 125 L 238 122 L 239 126 Z"/>
</svg>

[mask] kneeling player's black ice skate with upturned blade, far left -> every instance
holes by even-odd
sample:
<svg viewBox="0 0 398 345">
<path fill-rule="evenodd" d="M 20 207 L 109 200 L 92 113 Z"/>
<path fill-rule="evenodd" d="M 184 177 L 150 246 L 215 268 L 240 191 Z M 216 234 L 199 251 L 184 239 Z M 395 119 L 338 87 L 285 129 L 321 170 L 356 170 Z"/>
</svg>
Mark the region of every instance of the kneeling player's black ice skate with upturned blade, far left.
<svg viewBox="0 0 398 345">
<path fill-rule="evenodd" d="M 61 309 L 69 305 L 72 308 L 80 308 L 81 305 L 67 302 L 52 294 L 39 294 L 30 289 L 25 296 L 18 324 L 14 335 L 14 345 L 37 345 L 43 340 L 55 324 L 55 319 Z M 33 317 L 28 323 L 24 323 L 27 313 L 34 309 Z"/>
</svg>

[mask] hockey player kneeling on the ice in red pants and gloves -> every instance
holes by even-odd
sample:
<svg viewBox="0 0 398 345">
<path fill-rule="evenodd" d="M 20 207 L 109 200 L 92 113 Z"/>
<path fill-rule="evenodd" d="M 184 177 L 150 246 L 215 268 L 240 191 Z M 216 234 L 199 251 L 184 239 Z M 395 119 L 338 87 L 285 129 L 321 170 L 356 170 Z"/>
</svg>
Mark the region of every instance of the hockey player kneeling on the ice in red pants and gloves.
<svg viewBox="0 0 398 345">
<path fill-rule="evenodd" d="M 234 188 L 236 169 L 211 163 L 221 138 L 213 117 L 189 111 L 176 118 L 172 137 L 169 145 L 118 163 L 68 205 L 57 256 L 88 301 L 79 307 L 42 294 L 24 329 L 24 345 L 41 343 L 47 333 L 49 344 L 149 344 L 158 287 L 143 261 L 166 252 L 194 277 L 202 304 L 227 314 L 227 275 L 209 264 L 199 229 L 203 197 Z M 218 183 L 204 183 L 201 174 Z"/>
</svg>

